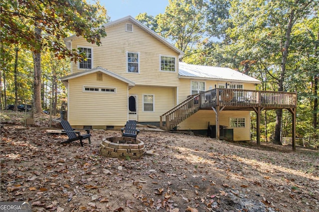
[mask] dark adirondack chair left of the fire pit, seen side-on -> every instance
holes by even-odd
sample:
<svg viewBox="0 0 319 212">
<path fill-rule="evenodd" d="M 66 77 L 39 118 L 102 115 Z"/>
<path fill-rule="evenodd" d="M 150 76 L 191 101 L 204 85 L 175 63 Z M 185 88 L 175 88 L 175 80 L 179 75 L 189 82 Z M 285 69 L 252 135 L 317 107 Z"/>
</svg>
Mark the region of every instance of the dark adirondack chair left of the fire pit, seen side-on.
<svg viewBox="0 0 319 212">
<path fill-rule="evenodd" d="M 63 127 L 63 131 L 66 132 L 67 136 L 69 137 L 68 140 L 63 141 L 61 143 L 71 143 L 73 141 L 80 140 L 81 146 L 83 146 L 82 140 L 84 139 L 88 139 L 89 143 L 91 143 L 91 139 L 90 139 L 91 134 L 89 129 L 82 129 L 82 130 L 86 130 L 87 134 L 81 135 L 80 131 L 75 131 L 75 129 L 71 127 L 70 123 L 67 120 L 61 120 L 61 125 Z M 81 129 L 78 129 L 78 130 L 81 130 Z"/>
</svg>

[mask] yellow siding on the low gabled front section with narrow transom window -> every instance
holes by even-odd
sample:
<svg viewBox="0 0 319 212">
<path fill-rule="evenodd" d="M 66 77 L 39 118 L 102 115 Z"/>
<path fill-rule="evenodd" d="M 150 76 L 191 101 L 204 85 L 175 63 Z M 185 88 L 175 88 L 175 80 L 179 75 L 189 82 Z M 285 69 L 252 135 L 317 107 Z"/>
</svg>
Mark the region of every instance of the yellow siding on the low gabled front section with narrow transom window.
<svg viewBox="0 0 319 212">
<path fill-rule="evenodd" d="M 115 88 L 116 93 L 83 92 L 83 85 Z M 69 80 L 68 119 L 71 125 L 123 126 L 127 121 L 128 85 L 103 74 L 97 81 L 96 73 Z"/>
</svg>

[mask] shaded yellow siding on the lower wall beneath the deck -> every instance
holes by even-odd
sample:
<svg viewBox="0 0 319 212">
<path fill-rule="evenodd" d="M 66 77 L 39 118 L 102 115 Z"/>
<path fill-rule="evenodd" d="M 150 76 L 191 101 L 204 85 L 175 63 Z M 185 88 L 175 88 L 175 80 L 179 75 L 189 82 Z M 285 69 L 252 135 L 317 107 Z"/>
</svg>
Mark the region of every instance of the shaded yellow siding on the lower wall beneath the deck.
<svg viewBox="0 0 319 212">
<path fill-rule="evenodd" d="M 245 118 L 246 127 L 230 127 L 230 117 Z M 216 115 L 213 110 L 199 110 L 186 120 L 178 124 L 178 130 L 199 130 L 207 129 L 208 121 L 210 125 L 216 124 Z M 249 111 L 221 111 L 219 115 L 219 125 L 234 129 L 234 141 L 250 140 L 250 112 Z"/>
</svg>

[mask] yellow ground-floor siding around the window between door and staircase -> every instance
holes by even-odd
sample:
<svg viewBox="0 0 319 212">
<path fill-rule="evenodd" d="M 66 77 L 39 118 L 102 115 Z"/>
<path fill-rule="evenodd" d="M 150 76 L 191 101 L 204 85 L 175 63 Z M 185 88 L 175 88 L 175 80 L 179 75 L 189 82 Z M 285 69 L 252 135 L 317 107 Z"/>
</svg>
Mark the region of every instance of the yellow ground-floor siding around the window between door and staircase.
<svg viewBox="0 0 319 212">
<path fill-rule="evenodd" d="M 138 96 L 138 121 L 160 121 L 160 115 L 175 106 L 175 88 L 135 86 L 130 95 Z M 154 111 L 143 111 L 143 95 L 154 95 Z"/>
</svg>

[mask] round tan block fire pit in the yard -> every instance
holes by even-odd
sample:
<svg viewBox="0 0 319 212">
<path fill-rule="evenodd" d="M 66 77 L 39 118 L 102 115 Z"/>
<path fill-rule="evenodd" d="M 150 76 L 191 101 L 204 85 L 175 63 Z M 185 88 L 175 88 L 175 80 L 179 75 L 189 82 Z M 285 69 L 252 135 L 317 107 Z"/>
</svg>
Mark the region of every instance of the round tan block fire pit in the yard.
<svg viewBox="0 0 319 212">
<path fill-rule="evenodd" d="M 144 142 L 137 138 L 109 137 L 100 143 L 99 154 L 105 157 L 139 159 L 144 153 Z"/>
</svg>

